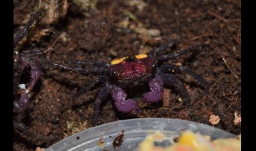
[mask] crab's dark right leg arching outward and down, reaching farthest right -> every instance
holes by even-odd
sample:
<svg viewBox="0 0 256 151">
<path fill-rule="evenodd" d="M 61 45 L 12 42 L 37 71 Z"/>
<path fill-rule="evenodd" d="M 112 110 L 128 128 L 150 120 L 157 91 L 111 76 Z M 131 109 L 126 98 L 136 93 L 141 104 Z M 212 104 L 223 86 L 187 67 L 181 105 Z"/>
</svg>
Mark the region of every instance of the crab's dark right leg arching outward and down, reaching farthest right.
<svg viewBox="0 0 256 151">
<path fill-rule="evenodd" d="M 185 72 L 185 73 L 189 74 L 190 76 L 194 77 L 196 79 L 197 83 L 199 83 L 201 86 L 203 86 L 205 88 L 205 93 L 208 93 L 208 83 L 206 82 L 206 80 L 199 74 L 196 74 L 196 72 L 194 72 L 190 68 L 186 68 L 183 66 L 176 67 L 174 65 L 163 65 L 160 67 L 160 70 L 161 70 L 161 72 L 164 72 L 164 73 Z"/>
</svg>

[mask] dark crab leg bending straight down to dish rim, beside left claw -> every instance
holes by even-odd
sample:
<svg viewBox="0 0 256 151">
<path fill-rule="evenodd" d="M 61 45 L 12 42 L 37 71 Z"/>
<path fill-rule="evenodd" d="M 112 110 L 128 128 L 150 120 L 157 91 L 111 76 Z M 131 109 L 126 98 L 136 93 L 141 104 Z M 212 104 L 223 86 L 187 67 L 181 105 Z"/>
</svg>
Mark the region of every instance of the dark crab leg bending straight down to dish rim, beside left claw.
<svg viewBox="0 0 256 151">
<path fill-rule="evenodd" d="M 100 104 L 102 100 L 105 100 L 107 95 L 109 94 L 110 86 L 104 86 L 102 90 L 100 90 L 100 93 L 98 93 L 98 97 L 95 100 L 95 107 L 94 107 L 94 113 L 93 113 L 93 126 L 98 125 L 98 113 L 100 111 Z"/>
</svg>

